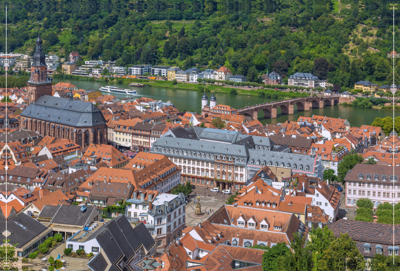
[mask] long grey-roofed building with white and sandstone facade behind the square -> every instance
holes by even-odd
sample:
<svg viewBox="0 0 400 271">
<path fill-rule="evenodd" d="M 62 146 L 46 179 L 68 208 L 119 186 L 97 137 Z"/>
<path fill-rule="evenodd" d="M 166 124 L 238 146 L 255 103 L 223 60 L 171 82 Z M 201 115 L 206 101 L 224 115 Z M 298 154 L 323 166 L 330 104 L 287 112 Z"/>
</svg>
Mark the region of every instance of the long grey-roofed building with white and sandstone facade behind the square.
<svg viewBox="0 0 400 271">
<path fill-rule="evenodd" d="M 153 143 L 151 153 L 163 154 L 182 168 L 181 181 L 203 187 L 238 190 L 265 165 L 281 179 L 291 173 L 322 177 L 315 155 L 279 152 L 268 137 L 212 128 L 176 127 Z"/>
</svg>

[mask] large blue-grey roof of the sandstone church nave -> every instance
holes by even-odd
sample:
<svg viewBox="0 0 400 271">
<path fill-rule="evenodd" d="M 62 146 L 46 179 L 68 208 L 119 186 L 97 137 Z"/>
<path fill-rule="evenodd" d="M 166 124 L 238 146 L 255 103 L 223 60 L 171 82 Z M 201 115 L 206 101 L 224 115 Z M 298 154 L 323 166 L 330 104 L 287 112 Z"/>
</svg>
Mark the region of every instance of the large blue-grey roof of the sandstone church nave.
<svg viewBox="0 0 400 271">
<path fill-rule="evenodd" d="M 105 125 L 101 111 L 91 102 L 43 95 L 20 114 L 74 127 Z"/>
</svg>

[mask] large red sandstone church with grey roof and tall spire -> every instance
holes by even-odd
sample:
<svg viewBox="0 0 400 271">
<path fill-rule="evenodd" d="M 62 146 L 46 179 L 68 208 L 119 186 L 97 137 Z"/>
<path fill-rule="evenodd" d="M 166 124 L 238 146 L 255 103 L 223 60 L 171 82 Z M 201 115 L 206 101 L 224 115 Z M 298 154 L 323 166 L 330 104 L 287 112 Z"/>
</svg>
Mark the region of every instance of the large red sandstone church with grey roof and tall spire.
<svg viewBox="0 0 400 271">
<path fill-rule="evenodd" d="M 36 51 L 28 80 L 28 107 L 21 112 L 20 127 L 41 135 L 71 139 L 82 148 L 107 143 L 106 120 L 92 103 L 51 96 L 51 78 L 37 35 Z"/>
</svg>

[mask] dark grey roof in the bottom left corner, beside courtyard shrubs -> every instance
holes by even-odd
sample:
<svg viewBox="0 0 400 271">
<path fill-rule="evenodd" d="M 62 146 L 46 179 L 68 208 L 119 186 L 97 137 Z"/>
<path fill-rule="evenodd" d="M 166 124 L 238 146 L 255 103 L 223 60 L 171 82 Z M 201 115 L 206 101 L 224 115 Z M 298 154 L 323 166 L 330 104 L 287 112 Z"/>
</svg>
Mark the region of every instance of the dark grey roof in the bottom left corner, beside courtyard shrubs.
<svg viewBox="0 0 400 271">
<path fill-rule="evenodd" d="M 7 236 L 7 239 L 9 239 L 9 243 L 11 244 L 16 243 L 17 248 L 24 246 L 27 242 L 47 229 L 45 225 L 24 212 L 19 212 L 7 221 L 0 219 L 0 232 L 5 230 L 6 223 L 7 230 L 11 232 L 11 234 Z M 0 238 L 0 244 L 3 244 L 5 236 L 0 234 Z"/>
</svg>

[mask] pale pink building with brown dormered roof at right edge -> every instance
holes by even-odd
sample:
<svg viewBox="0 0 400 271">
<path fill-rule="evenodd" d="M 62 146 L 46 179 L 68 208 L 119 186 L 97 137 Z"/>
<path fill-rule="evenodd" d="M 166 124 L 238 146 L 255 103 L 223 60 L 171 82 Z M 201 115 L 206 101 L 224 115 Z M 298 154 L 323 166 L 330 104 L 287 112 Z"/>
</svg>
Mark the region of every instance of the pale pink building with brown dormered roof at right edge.
<svg viewBox="0 0 400 271">
<path fill-rule="evenodd" d="M 394 175 L 392 169 L 394 168 Z M 368 197 L 374 208 L 383 202 L 400 201 L 398 166 L 357 163 L 344 177 L 346 182 L 346 206 L 354 207 L 358 198 Z"/>
</svg>

